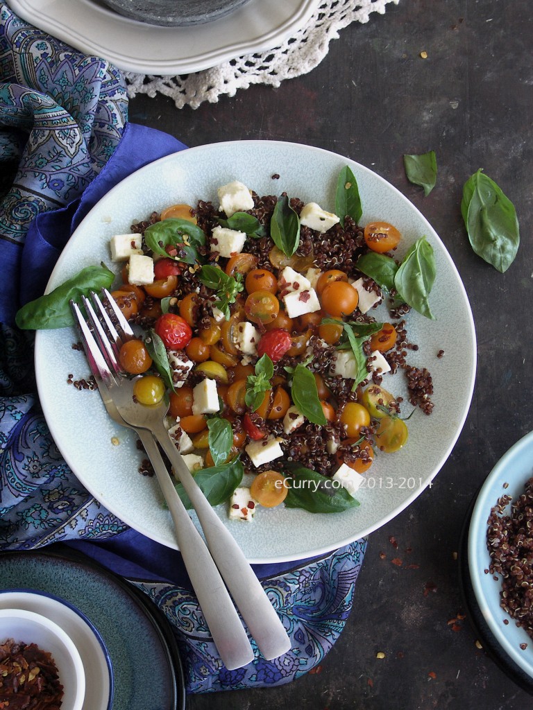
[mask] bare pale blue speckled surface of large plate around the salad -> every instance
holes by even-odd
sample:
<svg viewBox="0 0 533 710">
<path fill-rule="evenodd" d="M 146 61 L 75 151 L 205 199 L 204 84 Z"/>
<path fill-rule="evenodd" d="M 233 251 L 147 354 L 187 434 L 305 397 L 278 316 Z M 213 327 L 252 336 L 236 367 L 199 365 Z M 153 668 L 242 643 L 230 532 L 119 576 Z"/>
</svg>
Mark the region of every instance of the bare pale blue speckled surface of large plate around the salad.
<svg viewBox="0 0 533 710">
<path fill-rule="evenodd" d="M 407 446 L 376 457 L 366 474 L 366 487 L 358 493 L 359 508 L 331 515 L 283 506 L 262 508 L 247 525 L 230 523 L 225 506 L 219 506 L 217 512 L 250 562 L 321 555 L 367 535 L 419 496 L 451 452 L 472 396 L 475 332 L 461 278 L 429 222 L 392 185 L 341 155 L 279 141 L 215 143 L 151 163 L 114 187 L 73 234 L 48 285 L 54 288 L 88 263 L 109 263 L 110 237 L 129 231 L 132 220 L 145 219 L 175 202 L 216 201 L 217 187 L 230 180 L 241 180 L 260 195 L 286 191 L 333 211 L 338 174 L 346 164 L 360 188 L 361 224 L 371 219 L 395 224 L 404 236 L 400 257 L 424 235 L 434 247 L 437 277 L 431 307 L 436 320 L 416 312 L 408 317 L 410 340 L 419 345 L 409 361 L 431 371 L 434 413 L 428 417 L 417 411 L 409 420 Z M 274 180 L 274 174 L 279 179 Z M 375 313 L 379 318 L 379 311 Z M 72 470 L 104 506 L 144 535 L 176 547 L 156 481 L 137 473 L 140 454 L 135 435 L 107 417 L 97 393 L 78 392 L 66 382 L 68 373 L 88 374 L 83 354 L 72 350 L 76 339 L 67 330 L 41 331 L 36 338 L 39 395 L 53 437 Z M 446 354 L 438 359 L 441 349 Z M 403 377 L 395 376 L 384 386 L 400 395 L 403 382 Z M 410 410 L 404 406 L 406 415 Z M 112 444 L 113 437 L 119 437 L 119 446 Z"/>
</svg>

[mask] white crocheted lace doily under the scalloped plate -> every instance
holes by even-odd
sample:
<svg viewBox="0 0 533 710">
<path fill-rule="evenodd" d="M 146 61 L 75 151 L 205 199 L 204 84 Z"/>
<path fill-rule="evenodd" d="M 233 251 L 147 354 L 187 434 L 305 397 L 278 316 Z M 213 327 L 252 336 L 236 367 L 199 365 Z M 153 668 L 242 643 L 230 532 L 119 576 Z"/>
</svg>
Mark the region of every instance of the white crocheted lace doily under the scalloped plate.
<svg viewBox="0 0 533 710">
<path fill-rule="evenodd" d="M 372 12 L 383 15 L 390 2 L 397 5 L 399 0 L 322 0 L 307 25 L 277 48 L 178 77 L 126 72 L 129 97 L 159 93 L 171 97 L 178 109 L 198 109 L 205 101 L 215 104 L 223 94 L 235 96 L 237 89 L 252 84 L 279 87 L 284 79 L 306 74 L 320 64 L 339 30 L 352 22 L 368 22 Z"/>
</svg>

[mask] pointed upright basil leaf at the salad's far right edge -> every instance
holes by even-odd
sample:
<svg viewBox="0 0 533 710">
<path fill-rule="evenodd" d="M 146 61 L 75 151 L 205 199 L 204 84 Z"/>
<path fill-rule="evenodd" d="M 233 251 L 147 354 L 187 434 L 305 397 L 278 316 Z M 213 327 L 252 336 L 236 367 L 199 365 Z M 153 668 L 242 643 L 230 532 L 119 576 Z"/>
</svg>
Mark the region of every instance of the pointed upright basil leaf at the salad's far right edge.
<svg viewBox="0 0 533 710">
<path fill-rule="evenodd" d="M 407 252 L 394 276 L 394 286 L 402 299 L 414 310 L 434 320 L 429 307 L 429 294 L 436 277 L 433 247 L 423 236 Z"/>
</svg>

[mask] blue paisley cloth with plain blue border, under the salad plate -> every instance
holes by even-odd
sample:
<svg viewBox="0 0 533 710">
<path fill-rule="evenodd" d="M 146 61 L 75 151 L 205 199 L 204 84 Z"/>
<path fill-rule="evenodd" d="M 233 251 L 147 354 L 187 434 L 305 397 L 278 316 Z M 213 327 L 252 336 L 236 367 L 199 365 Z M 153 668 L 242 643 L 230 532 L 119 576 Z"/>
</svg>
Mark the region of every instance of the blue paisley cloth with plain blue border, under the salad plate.
<svg viewBox="0 0 533 710">
<path fill-rule="evenodd" d="M 88 493 L 50 437 L 31 334 L 18 307 L 43 293 L 70 234 L 119 180 L 185 146 L 127 122 L 120 72 L 21 21 L 0 2 L 0 550 L 67 542 L 149 595 L 171 622 L 188 692 L 290 682 L 345 626 L 365 540 L 321 559 L 254 570 L 292 640 L 284 656 L 228 671 L 181 555 L 128 528 Z"/>
</svg>

